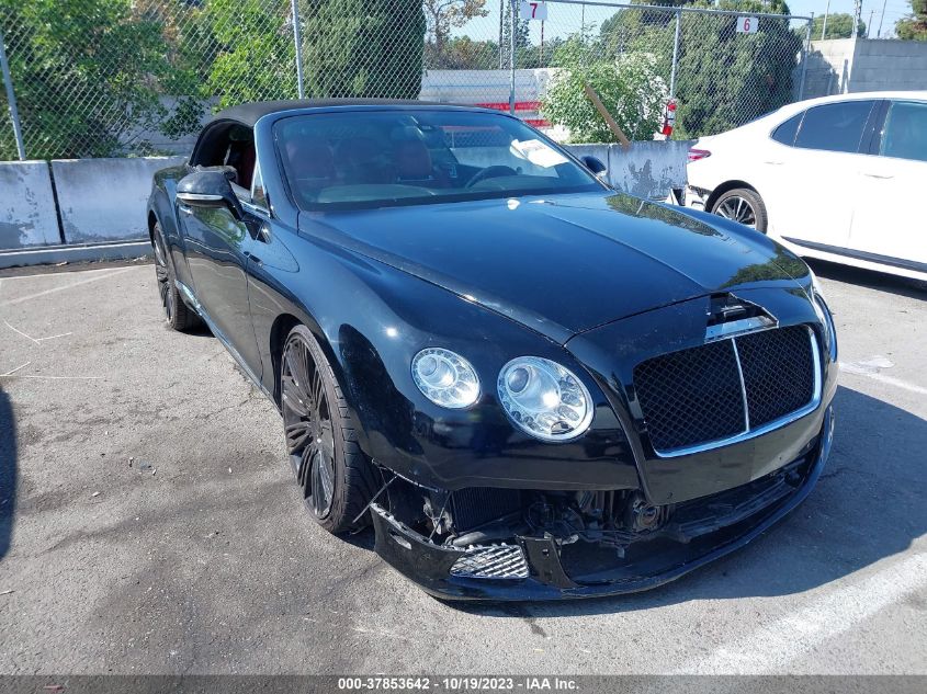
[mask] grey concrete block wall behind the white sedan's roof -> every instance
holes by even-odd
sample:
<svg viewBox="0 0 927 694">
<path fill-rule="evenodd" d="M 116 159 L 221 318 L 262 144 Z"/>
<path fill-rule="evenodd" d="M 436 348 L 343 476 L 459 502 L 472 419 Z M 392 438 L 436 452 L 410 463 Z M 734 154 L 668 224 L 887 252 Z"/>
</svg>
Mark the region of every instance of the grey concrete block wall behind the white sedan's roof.
<svg viewBox="0 0 927 694">
<path fill-rule="evenodd" d="M 812 42 L 805 99 L 888 90 L 927 90 L 927 43 L 869 38 Z"/>
</svg>

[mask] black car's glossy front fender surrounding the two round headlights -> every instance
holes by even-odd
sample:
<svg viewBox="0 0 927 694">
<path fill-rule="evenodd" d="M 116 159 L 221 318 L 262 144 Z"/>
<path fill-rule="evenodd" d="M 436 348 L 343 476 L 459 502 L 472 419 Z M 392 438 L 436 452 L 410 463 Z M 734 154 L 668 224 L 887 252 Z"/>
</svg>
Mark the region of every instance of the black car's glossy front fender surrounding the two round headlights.
<svg viewBox="0 0 927 694">
<path fill-rule="evenodd" d="M 608 399 L 561 345 L 501 315 L 374 260 L 316 238 L 278 232 L 298 270 L 251 270 L 251 312 L 262 362 L 275 364 L 281 317 L 306 325 L 323 345 L 360 423 L 366 455 L 420 485 L 457 489 L 636 488 L 636 468 Z M 289 320 L 289 319 L 287 319 Z M 285 335 L 282 335 L 285 339 Z M 427 346 L 465 356 L 481 397 L 465 410 L 441 408 L 415 386 L 410 364 Z M 500 408 L 496 379 L 515 356 L 563 363 L 596 405 L 592 429 L 563 444 L 516 429 Z M 276 390 L 276 368 L 264 366 Z"/>
</svg>

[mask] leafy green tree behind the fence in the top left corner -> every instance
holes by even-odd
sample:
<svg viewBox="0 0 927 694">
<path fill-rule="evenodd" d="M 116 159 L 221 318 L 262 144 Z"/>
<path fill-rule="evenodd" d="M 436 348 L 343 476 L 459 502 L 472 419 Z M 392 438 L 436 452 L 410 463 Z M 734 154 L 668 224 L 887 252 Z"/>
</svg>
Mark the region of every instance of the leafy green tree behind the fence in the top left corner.
<svg viewBox="0 0 927 694">
<path fill-rule="evenodd" d="M 182 73 L 163 23 L 142 9 L 132 0 L 0 0 L 29 157 L 112 156 L 171 126 L 160 86 L 182 83 Z M 0 159 L 15 157 L 8 130 Z"/>
</svg>

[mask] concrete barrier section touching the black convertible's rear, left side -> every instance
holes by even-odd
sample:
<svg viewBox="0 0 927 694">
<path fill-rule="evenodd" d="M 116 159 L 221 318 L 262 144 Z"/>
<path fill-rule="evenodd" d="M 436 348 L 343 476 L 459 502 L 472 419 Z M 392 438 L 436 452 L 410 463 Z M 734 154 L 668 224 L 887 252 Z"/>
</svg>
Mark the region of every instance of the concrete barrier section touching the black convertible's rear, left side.
<svg viewBox="0 0 927 694">
<path fill-rule="evenodd" d="M 60 159 L 52 162 L 66 243 L 140 239 L 151 175 L 183 157 Z"/>
</svg>

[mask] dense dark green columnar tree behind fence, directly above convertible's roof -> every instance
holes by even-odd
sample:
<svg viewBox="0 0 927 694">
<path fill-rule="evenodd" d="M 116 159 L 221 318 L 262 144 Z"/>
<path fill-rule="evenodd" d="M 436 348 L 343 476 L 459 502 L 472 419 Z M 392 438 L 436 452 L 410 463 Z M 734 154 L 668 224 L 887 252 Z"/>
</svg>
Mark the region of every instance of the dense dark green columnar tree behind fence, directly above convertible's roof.
<svg viewBox="0 0 927 694">
<path fill-rule="evenodd" d="M 304 0 L 312 96 L 416 99 L 426 20 L 419 0 Z"/>
</svg>

